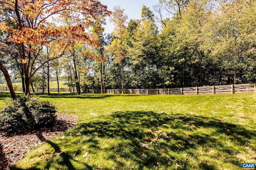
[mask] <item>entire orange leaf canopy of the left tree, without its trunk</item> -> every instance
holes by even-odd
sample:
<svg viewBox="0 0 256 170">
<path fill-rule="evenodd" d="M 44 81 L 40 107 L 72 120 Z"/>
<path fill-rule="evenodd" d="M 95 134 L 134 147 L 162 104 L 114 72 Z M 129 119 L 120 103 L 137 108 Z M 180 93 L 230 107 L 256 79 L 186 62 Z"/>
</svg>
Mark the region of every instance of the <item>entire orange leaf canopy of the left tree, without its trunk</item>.
<svg viewBox="0 0 256 170">
<path fill-rule="evenodd" d="M 2 9 L 15 11 L 16 14 L 8 14 L 16 21 L 15 27 L 6 21 L 0 23 L 0 29 L 9 35 L 8 40 L 32 46 L 53 42 L 59 46 L 75 43 L 98 47 L 98 34 L 88 30 L 111 13 L 107 6 L 96 0 L 78 0 L 75 3 L 71 0 L 19 0 L 18 3 L 1 0 L 0 3 Z M 3 14 L 2 11 L 0 14 Z M 63 16 L 70 24 L 55 26 L 52 23 L 51 18 Z"/>
</svg>

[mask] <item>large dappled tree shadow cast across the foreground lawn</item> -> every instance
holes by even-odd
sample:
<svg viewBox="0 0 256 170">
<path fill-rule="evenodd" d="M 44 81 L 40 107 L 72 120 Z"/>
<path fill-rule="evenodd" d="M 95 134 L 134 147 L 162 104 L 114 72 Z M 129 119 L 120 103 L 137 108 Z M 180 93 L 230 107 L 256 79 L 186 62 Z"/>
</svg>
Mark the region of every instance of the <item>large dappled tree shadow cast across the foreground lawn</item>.
<svg viewBox="0 0 256 170">
<path fill-rule="evenodd" d="M 220 169 L 220 164 L 239 168 L 242 160 L 234 155 L 240 153 L 239 147 L 250 145 L 255 135 L 255 131 L 241 125 L 215 118 L 150 111 L 115 112 L 100 120 L 77 125 L 72 133 L 81 134 L 80 140 L 72 145 L 87 146 L 90 155 L 105 155 L 99 169 L 109 169 L 108 161 L 114 162 L 114 169 L 212 170 Z M 106 140 L 110 142 L 103 147 L 102 141 Z M 61 151 L 56 144 L 49 144 Z M 209 153 L 209 150 L 215 152 Z M 62 155 L 65 162 L 59 164 L 75 169 L 69 162 L 71 156 Z M 90 163 L 94 164 L 94 160 Z"/>
</svg>

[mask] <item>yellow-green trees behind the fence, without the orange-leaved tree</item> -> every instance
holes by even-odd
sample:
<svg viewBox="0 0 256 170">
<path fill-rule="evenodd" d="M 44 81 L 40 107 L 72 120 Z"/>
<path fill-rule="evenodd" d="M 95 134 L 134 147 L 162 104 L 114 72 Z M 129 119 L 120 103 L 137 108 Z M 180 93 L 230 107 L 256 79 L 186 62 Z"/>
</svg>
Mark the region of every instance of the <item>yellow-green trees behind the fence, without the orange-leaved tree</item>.
<svg viewBox="0 0 256 170">
<path fill-rule="evenodd" d="M 50 61 L 50 79 L 65 79 L 72 92 L 256 82 L 254 0 L 160 0 L 153 11 L 142 6 L 140 20 L 127 21 L 122 7 L 115 7 L 111 18 L 112 34 L 103 34 L 104 20 L 92 27 L 101 47 L 74 45 L 64 59 Z M 6 67 L 22 77 L 8 61 Z M 46 66 L 40 68 L 30 84 L 46 87 L 46 73 Z"/>
</svg>

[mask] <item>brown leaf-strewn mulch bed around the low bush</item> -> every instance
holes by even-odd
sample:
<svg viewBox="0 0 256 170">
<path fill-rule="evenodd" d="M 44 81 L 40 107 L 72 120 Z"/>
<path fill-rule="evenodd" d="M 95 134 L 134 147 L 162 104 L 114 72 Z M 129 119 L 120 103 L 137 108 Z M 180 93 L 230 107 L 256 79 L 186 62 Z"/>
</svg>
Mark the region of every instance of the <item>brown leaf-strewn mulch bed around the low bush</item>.
<svg viewBox="0 0 256 170">
<path fill-rule="evenodd" d="M 0 170 L 9 170 L 11 166 L 24 158 L 31 148 L 42 145 L 77 123 L 77 115 L 66 113 L 56 113 L 56 115 L 57 121 L 50 128 L 13 135 L 0 133 Z"/>
</svg>

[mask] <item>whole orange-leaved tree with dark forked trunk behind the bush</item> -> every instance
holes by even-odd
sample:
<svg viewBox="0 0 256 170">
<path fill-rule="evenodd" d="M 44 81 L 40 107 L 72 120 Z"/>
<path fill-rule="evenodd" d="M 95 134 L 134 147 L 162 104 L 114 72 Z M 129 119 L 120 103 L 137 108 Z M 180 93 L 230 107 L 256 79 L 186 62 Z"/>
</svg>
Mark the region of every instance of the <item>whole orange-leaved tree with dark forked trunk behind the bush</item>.
<svg viewBox="0 0 256 170">
<path fill-rule="evenodd" d="M 95 35 L 86 33 L 85 30 L 94 24 L 98 18 L 108 16 L 110 12 L 99 1 L 79 0 L 72 3 L 68 0 L 60 1 L 19 1 L 1 0 L 1 30 L 8 40 L 20 45 L 18 55 L 11 56 L 24 70 L 26 94 L 29 94 L 29 84 L 32 76 L 49 60 L 62 56 L 73 43 L 98 45 Z M 75 11 L 75 13 L 74 13 Z M 49 18 L 54 16 L 67 16 L 76 21 L 73 26 L 54 27 Z M 15 25 L 9 24 L 5 18 L 11 18 Z M 52 42 L 58 44 L 60 53 L 35 68 L 35 61 L 45 46 Z M 3 68 L 3 65 L 1 65 Z M 6 77 L 7 72 L 4 71 Z M 11 84 L 8 82 L 8 86 Z"/>
</svg>

